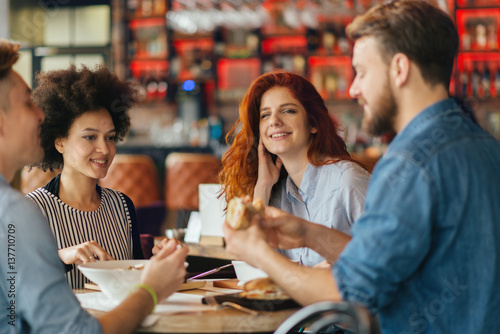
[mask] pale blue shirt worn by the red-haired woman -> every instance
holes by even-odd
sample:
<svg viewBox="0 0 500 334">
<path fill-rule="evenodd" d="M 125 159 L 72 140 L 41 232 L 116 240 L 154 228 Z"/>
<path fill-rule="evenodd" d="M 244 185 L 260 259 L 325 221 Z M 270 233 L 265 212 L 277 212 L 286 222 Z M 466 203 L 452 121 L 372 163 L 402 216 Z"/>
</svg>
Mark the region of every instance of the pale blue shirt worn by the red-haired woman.
<svg viewBox="0 0 500 334">
<path fill-rule="evenodd" d="M 308 164 L 300 188 L 290 176 L 278 184 L 270 205 L 310 222 L 351 234 L 363 213 L 370 173 L 351 161 L 316 167 Z M 309 248 L 282 250 L 292 260 L 314 266 L 324 260 Z"/>
</svg>

